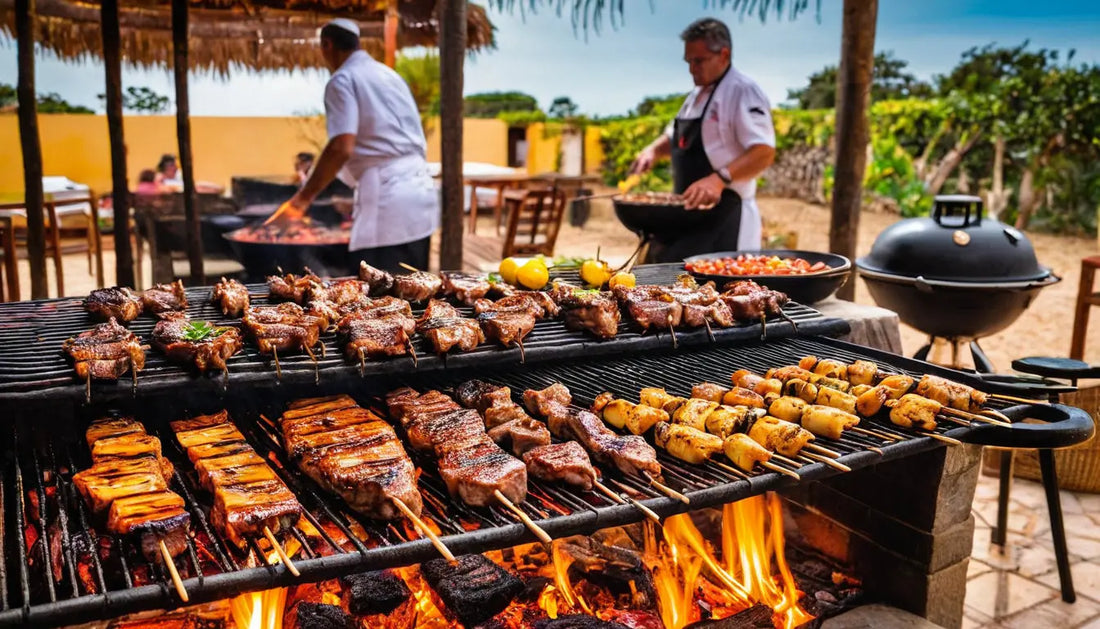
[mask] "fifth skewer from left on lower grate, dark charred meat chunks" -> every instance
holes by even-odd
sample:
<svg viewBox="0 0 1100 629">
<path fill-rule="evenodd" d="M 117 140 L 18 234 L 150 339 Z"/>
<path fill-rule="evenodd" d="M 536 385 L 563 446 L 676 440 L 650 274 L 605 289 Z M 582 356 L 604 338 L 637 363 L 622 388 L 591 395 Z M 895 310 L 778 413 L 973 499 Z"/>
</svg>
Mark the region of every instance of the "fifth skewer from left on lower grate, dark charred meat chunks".
<svg viewBox="0 0 1100 629">
<path fill-rule="evenodd" d="M 494 430 L 507 428 L 513 423 L 537 424 L 542 431 L 547 431 L 546 424 L 531 419 L 512 399 L 512 389 L 504 386 L 491 385 L 481 380 L 470 380 L 459 385 L 457 389 L 458 400 L 466 408 L 475 408 L 485 418 L 485 426 L 491 428 L 490 435 Z M 504 419 L 505 423 L 499 423 Z M 491 426 L 494 424 L 495 426 Z M 526 432 L 526 431 L 525 431 Z M 651 509 L 641 505 L 629 496 L 619 496 L 612 492 L 606 485 L 600 482 L 588 453 L 578 441 L 563 441 L 550 443 L 550 433 L 546 432 L 546 443 L 532 448 L 517 446 L 513 439 L 513 449 L 517 456 L 527 464 L 527 472 L 543 481 L 564 482 L 575 485 L 582 489 L 597 489 L 612 500 L 619 504 L 631 504 L 638 508 L 646 517 L 653 521 L 660 518 Z"/>
</svg>

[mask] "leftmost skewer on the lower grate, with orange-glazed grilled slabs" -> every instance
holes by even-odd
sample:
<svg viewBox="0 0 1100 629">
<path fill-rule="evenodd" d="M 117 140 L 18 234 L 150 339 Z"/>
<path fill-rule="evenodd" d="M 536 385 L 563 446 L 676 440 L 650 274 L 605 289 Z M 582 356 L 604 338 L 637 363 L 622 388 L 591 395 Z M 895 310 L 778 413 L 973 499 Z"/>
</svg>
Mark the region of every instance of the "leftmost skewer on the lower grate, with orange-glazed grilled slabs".
<svg viewBox="0 0 1100 629">
<path fill-rule="evenodd" d="M 91 510 L 106 516 L 107 529 L 135 537 L 146 561 L 163 561 L 176 594 L 189 596 L 173 558 L 187 550 L 190 515 L 178 494 L 168 489 L 172 465 L 161 456 L 161 442 L 132 418 L 94 421 L 85 432 L 91 467 L 73 475 L 73 484 Z"/>
</svg>

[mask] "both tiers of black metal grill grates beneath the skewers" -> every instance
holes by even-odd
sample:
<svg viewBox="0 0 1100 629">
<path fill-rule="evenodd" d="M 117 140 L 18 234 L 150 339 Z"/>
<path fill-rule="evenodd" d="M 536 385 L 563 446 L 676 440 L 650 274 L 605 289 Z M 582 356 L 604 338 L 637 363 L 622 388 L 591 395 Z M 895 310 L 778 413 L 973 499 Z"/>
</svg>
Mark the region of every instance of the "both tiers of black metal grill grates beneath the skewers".
<svg viewBox="0 0 1100 629">
<path fill-rule="evenodd" d="M 667 280 L 671 267 L 641 267 L 640 282 Z M 195 316 L 217 319 L 205 302 L 205 289 L 190 291 Z M 715 331 L 712 342 L 704 332 L 679 335 L 672 347 L 668 335 L 641 336 L 629 329 L 613 341 L 594 342 L 566 332 L 559 323 L 540 323 L 529 336 L 527 365 L 517 368 L 515 350 L 481 347 L 446 360 L 425 357 L 414 367 L 408 358 L 369 362 L 365 376 L 346 363 L 329 338 L 328 357 L 316 372 L 308 358 L 287 357 L 282 382 L 275 379 L 267 361 L 248 350 L 230 361 L 230 379 L 197 378 L 150 352 L 147 367 L 139 376 L 132 397 L 129 383 L 97 385 L 92 405 L 85 405 L 84 385 L 73 380 L 61 358 L 61 341 L 88 327 L 78 300 L 23 302 L 0 307 L 0 424 L 7 442 L 0 461 L 0 500 L 3 505 L 0 534 L 0 625 L 56 626 L 95 618 L 111 618 L 139 610 L 179 605 L 163 566 L 147 563 L 127 541 L 99 536 L 90 514 L 72 483 L 75 471 L 89 464 L 82 443 L 90 419 L 110 412 L 134 415 L 152 434 L 161 438 L 164 454 L 176 466 L 172 488 L 183 496 L 191 514 L 194 537 L 187 551 L 176 559 L 191 603 L 227 598 L 246 591 L 268 589 L 295 583 L 332 578 L 364 570 L 410 565 L 438 556 L 431 543 L 404 522 L 381 523 L 352 512 L 338 498 L 322 492 L 286 461 L 273 419 L 288 400 L 305 396 L 349 393 L 358 401 L 381 410 L 378 396 L 403 385 L 418 390 L 448 389 L 472 377 L 508 385 L 514 393 L 565 384 L 576 404 L 587 405 L 604 390 L 634 397 L 645 386 L 663 386 L 675 395 L 688 395 L 694 384 L 726 382 L 738 368 L 762 373 L 769 367 L 794 364 L 804 355 L 846 362 L 870 360 L 881 368 L 911 375 L 933 373 L 992 390 L 998 385 L 976 376 L 936 367 L 915 360 L 853 345 L 825 336 L 845 324 L 823 318 L 798 305 L 789 313 L 799 322 L 800 335 L 788 322 L 768 322 L 768 339 L 761 327 L 746 325 Z M 135 321 L 134 330 L 147 336 L 148 321 Z M 427 353 L 426 349 L 422 353 Z M 200 386 L 196 386 L 199 383 Z M 1010 389 L 1019 394 L 1019 388 Z M 278 563 L 267 563 L 253 543 L 249 553 L 238 551 L 210 526 L 199 498 L 193 466 L 178 448 L 169 420 L 226 408 L 255 450 L 297 495 L 305 507 L 302 521 L 290 538 L 301 544 L 294 577 Z M 1041 417 L 1053 423 L 1030 428 L 1043 439 L 1057 442 L 1079 439 L 1092 430 L 1088 415 L 1064 406 L 1018 406 L 1002 410 L 1013 419 Z M 48 422 L 48 423 L 46 423 Z M 890 435 L 878 439 L 846 433 L 839 441 L 824 441 L 853 470 L 915 455 L 942 446 L 931 438 L 904 432 L 889 424 L 876 430 Z M 941 434 L 966 440 L 988 430 L 1016 430 L 982 426 L 966 428 L 942 423 Z M 1023 431 L 1021 431 L 1023 432 Z M 1032 435 L 1034 438 L 1034 434 Z M 1053 441 L 1052 441 L 1053 440 Z M 422 470 L 419 488 L 425 516 L 435 521 L 443 542 L 458 553 L 484 552 L 529 542 L 534 538 L 506 510 L 474 509 L 452 500 L 431 463 L 414 461 Z M 691 465 L 659 453 L 664 481 L 690 498 L 690 505 L 666 497 L 637 477 L 603 468 L 605 481 L 624 489 L 662 516 L 723 505 L 790 486 L 796 482 L 778 473 L 744 474 L 714 462 Z M 802 481 L 818 481 L 838 474 L 834 467 L 800 461 Z M 644 515 L 629 504 L 616 504 L 594 492 L 580 492 L 539 481 L 529 482 L 524 511 L 554 538 L 588 534 L 598 529 L 637 522 Z M 289 538 L 288 538 L 289 539 Z M 254 558 L 260 558 L 257 562 Z"/>
</svg>

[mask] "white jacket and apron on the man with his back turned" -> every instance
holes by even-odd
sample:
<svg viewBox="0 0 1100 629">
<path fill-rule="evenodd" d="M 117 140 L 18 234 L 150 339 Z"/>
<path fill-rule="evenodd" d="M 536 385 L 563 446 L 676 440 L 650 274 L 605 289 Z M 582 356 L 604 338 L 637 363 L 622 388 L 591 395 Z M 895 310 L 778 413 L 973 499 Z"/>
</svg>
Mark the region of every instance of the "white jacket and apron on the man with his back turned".
<svg viewBox="0 0 1100 629">
<path fill-rule="evenodd" d="M 355 51 L 324 87 L 329 137 L 355 135 L 341 179 L 356 184 L 351 251 L 403 244 L 439 225 L 427 142 L 404 79 Z"/>
</svg>

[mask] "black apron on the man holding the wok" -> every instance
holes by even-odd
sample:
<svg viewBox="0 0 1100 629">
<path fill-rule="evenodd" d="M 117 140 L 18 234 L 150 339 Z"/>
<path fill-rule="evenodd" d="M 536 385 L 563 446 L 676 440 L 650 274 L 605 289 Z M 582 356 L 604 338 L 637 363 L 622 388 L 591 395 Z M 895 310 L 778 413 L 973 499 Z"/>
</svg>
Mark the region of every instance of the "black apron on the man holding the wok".
<svg viewBox="0 0 1100 629">
<path fill-rule="evenodd" d="M 714 92 L 718 90 L 718 84 L 725 77 L 723 74 L 715 81 L 698 118 L 676 118 L 672 123 L 672 190 L 678 195 L 684 194 L 695 181 L 714 174 L 714 167 L 703 150 L 703 120 Z M 652 242 L 646 262 L 681 262 L 701 253 L 737 250 L 737 236 L 741 229 L 740 195 L 726 188 L 713 208 L 693 211 L 706 212 L 711 220 L 690 230 L 669 225 L 663 233 L 650 234 Z"/>
</svg>

